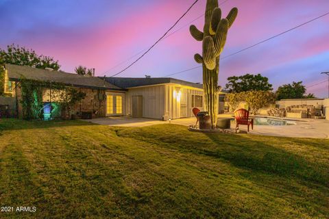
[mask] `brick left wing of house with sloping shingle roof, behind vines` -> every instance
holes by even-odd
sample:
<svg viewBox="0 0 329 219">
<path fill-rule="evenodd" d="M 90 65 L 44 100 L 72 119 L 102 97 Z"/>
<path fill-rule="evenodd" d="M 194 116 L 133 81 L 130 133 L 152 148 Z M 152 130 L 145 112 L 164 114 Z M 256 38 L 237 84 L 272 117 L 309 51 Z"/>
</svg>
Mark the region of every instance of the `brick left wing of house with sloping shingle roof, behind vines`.
<svg viewBox="0 0 329 219">
<path fill-rule="evenodd" d="M 84 113 L 87 113 L 85 114 L 86 116 L 92 116 L 92 118 L 105 117 L 107 115 L 106 92 L 125 94 L 124 89 L 103 81 L 98 77 L 85 77 L 72 73 L 64 73 L 62 71 L 5 64 L 5 93 L 12 94 L 16 99 L 16 115 L 19 117 L 23 114 L 21 106 L 21 88 L 19 86 L 19 81 L 22 77 L 38 81 L 64 83 L 66 86 L 74 87 L 86 93 L 85 99 L 71 107 L 70 116 L 74 118 L 82 118 Z M 42 97 L 44 103 L 56 102 L 56 100 L 51 99 L 50 89 L 45 89 Z M 59 113 L 57 116 L 61 116 L 61 114 Z"/>
</svg>

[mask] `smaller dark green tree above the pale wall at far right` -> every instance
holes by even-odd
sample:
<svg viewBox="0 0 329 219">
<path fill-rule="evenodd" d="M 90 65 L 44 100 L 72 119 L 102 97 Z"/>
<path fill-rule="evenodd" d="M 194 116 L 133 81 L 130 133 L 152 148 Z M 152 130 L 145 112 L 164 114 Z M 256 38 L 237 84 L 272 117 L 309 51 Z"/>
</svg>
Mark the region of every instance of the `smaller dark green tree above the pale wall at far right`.
<svg viewBox="0 0 329 219">
<path fill-rule="evenodd" d="M 306 94 L 306 88 L 302 81 L 288 83 L 280 86 L 276 91 L 276 99 L 313 99 L 314 94 Z"/>
</svg>

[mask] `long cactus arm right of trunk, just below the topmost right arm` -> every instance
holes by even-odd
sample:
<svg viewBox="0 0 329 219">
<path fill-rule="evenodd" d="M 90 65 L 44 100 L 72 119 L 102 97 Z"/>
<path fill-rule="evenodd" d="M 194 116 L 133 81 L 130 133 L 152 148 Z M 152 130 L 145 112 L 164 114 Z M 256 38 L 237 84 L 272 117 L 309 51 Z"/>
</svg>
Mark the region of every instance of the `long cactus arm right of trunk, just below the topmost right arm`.
<svg viewBox="0 0 329 219">
<path fill-rule="evenodd" d="M 215 55 L 219 56 L 223 51 L 226 43 L 226 36 L 228 36 L 228 20 L 226 18 L 221 19 L 217 27 L 217 31 L 214 37 L 215 40 Z"/>
</svg>

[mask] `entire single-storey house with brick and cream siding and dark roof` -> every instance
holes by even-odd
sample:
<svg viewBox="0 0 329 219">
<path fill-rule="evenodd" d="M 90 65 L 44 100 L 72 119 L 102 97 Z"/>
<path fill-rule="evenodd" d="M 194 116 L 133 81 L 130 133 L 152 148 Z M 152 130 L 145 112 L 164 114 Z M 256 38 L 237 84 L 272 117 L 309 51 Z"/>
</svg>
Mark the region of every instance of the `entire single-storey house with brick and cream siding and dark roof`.
<svg viewBox="0 0 329 219">
<path fill-rule="evenodd" d="M 71 107 L 71 117 L 74 118 L 84 118 L 85 114 L 89 114 L 91 118 L 132 116 L 169 120 L 194 116 L 193 107 L 204 110 L 204 92 L 199 83 L 168 77 L 86 77 L 5 64 L 5 92 L 16 100 L 18 116 L 23 112 L 19 86 L 22 77 L 60 82 L 86 93 L 85 99 Z M 223 94 L 219 93 L 219 112 L 223 112 Z M 45 104 L 56 102 L 51 99 L 51 89 L 43 91 L 42 101 Z"/>
</svg>

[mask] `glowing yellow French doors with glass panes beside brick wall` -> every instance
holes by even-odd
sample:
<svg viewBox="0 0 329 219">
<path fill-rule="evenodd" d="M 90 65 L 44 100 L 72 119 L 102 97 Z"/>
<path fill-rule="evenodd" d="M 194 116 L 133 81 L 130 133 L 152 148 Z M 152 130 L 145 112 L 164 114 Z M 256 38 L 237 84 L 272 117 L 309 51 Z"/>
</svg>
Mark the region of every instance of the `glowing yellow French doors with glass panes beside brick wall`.
<svg viewBox="0 0 329 219">
<path fill-rule="evenodd" d="M 106 116 L 123 114 L 123 94 L 106 94 Z"/>
</svg>

